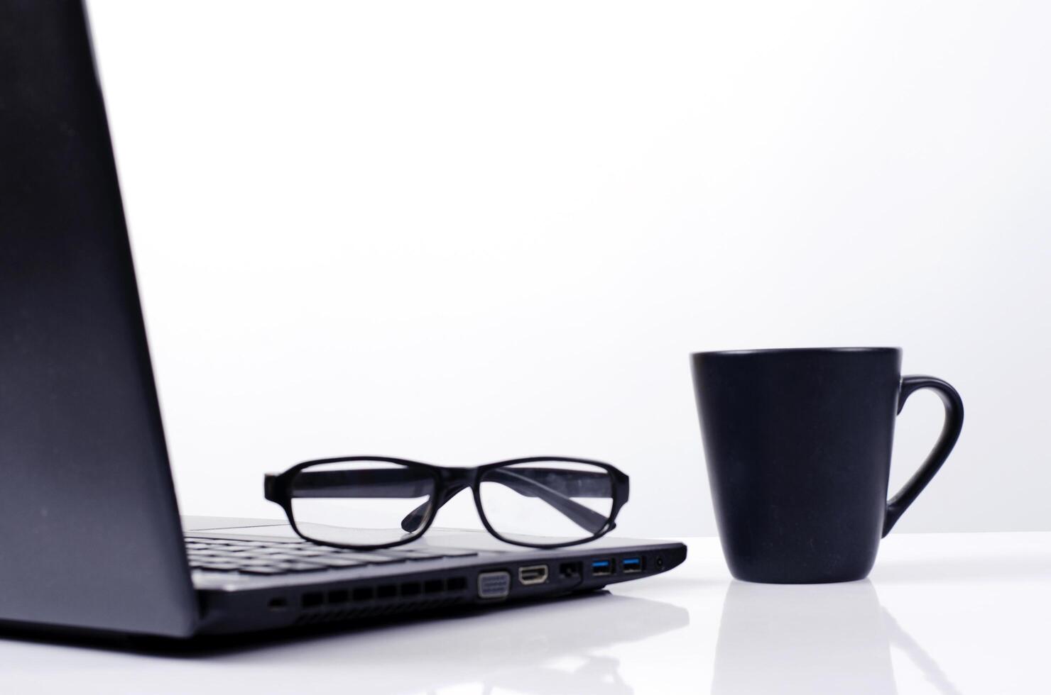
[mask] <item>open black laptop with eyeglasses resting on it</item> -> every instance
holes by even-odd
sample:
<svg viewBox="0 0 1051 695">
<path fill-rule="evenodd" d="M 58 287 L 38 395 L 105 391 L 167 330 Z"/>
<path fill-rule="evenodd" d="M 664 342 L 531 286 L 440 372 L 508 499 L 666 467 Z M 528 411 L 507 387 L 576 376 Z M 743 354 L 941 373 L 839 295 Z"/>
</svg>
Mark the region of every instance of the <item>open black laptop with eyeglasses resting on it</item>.
<svg viewBox="0 0 1051 695">
<path fill-rule="evenodd" d="M 593 591 L 685 559 L 680 543 L 522 549 L 454 529 L 360 553 L 285 521 L 180 518 L 71 0 L 0 0 L 0 624 L 246 633 Z"/>
</svg>

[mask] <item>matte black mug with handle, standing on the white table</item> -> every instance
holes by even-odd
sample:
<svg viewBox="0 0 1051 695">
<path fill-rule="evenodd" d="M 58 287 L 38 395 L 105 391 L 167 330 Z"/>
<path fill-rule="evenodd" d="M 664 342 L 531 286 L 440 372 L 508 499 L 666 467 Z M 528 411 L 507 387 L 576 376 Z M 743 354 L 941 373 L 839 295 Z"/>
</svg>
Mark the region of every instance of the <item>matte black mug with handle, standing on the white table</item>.
<svg viewBox="0 0 1051 695">
<path fill-rule="evenodd" d="M 719 538 L 746 582 L 868 575 L 886 535 L 952 450 L 956 389 L 901 376 L 897 348 L 696 353 L 694 385 Z M 887 501 L 894 420 L 921 388 L 945 404 L 942 435 Z"/>
</svg>

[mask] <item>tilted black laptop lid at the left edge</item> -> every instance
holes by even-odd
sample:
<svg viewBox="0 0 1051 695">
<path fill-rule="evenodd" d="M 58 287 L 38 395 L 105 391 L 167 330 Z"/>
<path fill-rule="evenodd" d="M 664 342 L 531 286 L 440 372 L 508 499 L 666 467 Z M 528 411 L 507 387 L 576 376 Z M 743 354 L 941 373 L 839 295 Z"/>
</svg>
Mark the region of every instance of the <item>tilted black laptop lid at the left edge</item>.
<svg viewBox="0 0 1051 695">
<path fill-rule="evenodd" d="M 0 0 L 0 620 L 197 623 L 85 10 Z"/>
</svg>

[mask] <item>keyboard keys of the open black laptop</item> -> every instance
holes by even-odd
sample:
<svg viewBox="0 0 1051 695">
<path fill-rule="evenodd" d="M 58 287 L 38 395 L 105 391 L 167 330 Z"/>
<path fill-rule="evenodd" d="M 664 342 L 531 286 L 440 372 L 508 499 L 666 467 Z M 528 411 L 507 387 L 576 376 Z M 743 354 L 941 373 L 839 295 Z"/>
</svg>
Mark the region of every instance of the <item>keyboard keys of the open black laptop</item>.
<svg viewBox="0 0 1051 695">
<path fill-rule="evenodd" d="M 321 572 L 363 565 L 467 557 L 477 554 L 473 550 L 453 548 L 428 550 L 390 548 L 364 552 L 330 548 L 309 541 L 243 541 L 186 536 L 186 555 L 190 561 L 190 569 L 254 575 Z"/>
</svg>

